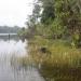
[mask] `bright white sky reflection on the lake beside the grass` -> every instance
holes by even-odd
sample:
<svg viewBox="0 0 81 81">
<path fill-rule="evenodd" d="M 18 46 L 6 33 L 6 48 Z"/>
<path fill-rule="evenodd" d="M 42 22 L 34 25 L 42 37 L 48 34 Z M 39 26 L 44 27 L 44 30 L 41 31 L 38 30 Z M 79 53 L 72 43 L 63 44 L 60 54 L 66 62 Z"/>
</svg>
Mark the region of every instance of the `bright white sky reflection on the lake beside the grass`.
<svg viewBox="0 0 81 81">
<path fill-rule="evenodd" d="M 25 42 L 18 40 L 18 42 L 11 40 L 11 41 L 0 41 L 0 55 L 9 55 L 9 54 L 16 54 L 16 55 L 24 55 L 25 52 Z"/>
</svg>

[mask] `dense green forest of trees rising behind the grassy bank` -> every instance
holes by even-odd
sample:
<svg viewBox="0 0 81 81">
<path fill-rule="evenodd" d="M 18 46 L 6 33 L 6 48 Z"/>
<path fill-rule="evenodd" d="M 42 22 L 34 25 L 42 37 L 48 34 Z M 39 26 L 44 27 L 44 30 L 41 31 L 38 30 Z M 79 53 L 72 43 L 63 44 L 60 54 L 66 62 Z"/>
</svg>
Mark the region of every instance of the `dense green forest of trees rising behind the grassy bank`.
<svg viewBox="0 0 81 81">
<path fill-rule="evenodd" d="M 70 39 L 70 44 L 81 42 L 80 0 L 38 0 L 27 22 L 28 35 L 52 39 Z"/>
</svg>

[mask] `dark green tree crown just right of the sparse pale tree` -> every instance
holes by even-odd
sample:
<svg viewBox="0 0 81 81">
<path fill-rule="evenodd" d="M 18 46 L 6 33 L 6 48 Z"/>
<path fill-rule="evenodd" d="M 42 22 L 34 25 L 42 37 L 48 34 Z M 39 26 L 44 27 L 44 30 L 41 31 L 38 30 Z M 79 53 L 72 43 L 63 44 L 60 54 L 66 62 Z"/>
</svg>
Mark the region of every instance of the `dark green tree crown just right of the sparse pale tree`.
<svg viewBox="0 0 81 81">
<path fill-rule="evenodd" d="M 54 0 L 39 0 L 42 3 L 41 23 L 49 25 L 55 18 Z"/>
</svg>

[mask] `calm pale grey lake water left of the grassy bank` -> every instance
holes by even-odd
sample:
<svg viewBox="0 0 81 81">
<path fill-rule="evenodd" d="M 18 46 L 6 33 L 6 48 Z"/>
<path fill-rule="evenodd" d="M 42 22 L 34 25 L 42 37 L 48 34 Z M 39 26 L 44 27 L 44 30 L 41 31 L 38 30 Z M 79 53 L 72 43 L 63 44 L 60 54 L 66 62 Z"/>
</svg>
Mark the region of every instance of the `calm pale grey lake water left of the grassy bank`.
<svg viewBox="0 0 81 81">
<path fill-rule="evenodd" d="M 44 81 L 36 68 L 19 68 L 12 66 L 15 57 L 27 55 L 27 41 L 22 41 L 16 36 L 0 36 L 0 81 Z M 18 67 L 18 68 L 17 68 Z"/>
</svg>

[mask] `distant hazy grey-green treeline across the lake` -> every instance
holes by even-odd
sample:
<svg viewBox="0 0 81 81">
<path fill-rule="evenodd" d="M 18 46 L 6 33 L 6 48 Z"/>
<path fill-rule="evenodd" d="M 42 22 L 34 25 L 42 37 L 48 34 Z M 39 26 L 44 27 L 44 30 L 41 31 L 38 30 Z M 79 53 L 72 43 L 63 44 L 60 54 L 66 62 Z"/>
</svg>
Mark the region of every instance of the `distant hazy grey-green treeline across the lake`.
<svg viewBox="0 0 81 81">
<path fill-rule="evenodd" d="M 0 26 L 0 33 L 17 33 L 18 30 L 21 30 L 21 27 L 18 26 Z"/>
</svg>

